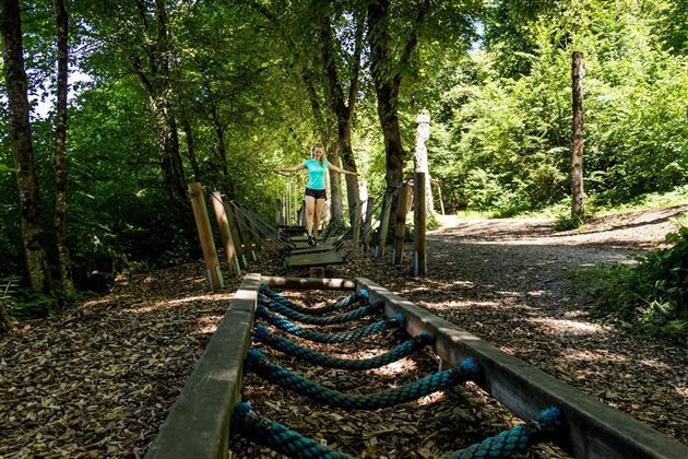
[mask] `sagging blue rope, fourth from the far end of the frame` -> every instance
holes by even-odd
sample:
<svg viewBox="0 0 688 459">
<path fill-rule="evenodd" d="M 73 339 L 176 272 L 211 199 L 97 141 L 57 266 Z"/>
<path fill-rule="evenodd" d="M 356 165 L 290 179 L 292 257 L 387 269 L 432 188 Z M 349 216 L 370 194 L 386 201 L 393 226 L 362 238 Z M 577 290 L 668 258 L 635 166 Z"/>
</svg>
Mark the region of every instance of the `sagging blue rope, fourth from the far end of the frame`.
<svg viewBox="0 0 688 459">
<path fill-rule="evenodd" d="M 278 334 L 271 333 L 265 326 L 257 325 L 253 329 L 253 341 L 259 341 L 277 349 L 286 354 L 295 355 L 301 360 L 313 363 L 316 365 L 325 366 L 328 368 L 340 368 L 348 370 L 363 370 L 370 368 L 379 368 L 391 362 L 396 362 L 414 352 L 430 345 L 435 339 L 428 333 L 423 332 L 412 340 L 406 340 L 384 354 L 371 358 L 335 358 L 310 349 L 304 348 L 283 338 Z"/>
</svg>

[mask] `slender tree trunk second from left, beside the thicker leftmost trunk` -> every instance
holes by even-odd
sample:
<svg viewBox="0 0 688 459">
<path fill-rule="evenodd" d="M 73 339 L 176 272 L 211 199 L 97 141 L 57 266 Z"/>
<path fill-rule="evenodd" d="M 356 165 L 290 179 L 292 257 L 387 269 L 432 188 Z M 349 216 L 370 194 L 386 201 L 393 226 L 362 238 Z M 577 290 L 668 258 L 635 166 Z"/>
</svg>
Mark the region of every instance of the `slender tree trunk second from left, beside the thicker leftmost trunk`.
<svg viewBox="0 0 688 459">
<path fill-rule="evenodd" d="M 67 246 L 67 93 L 68 93 L 68 58 L 69 58 L 69 16 L 64 0 L 52 0 L 57 17 L 58 73 L 57 73 L 57 122 L 55 126 L 55 236 L 60 280 L 67 296 L 74 294 L 72 267 Z"/>
</svg>

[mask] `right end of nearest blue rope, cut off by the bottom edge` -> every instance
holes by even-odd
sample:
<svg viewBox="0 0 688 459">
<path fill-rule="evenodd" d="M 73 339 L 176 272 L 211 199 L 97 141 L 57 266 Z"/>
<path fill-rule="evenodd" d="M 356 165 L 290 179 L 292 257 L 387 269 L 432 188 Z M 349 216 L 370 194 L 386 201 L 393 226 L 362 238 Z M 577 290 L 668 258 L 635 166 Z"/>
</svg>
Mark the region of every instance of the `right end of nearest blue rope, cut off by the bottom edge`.
<svg viewBox="0 0 688 459">
<path fill-rule="evenodd" d="M 549 439 L 561 427 L 561 413 L 556 407 L 543 410 L 537 421 L 519 424 L 497 436 L 467 448 L 442 456 L 442 459 L 508 458 Z"/>
</svg>

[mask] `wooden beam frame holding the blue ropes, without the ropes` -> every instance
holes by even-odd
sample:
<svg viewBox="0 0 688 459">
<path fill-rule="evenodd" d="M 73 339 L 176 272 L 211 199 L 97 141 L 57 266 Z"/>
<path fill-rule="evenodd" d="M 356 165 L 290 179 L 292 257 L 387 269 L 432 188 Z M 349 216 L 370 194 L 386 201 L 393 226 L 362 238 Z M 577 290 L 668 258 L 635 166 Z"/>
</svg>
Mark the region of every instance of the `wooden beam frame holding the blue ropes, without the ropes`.
<svg viewBox="0 0 688 459">
<path fill-rule="evenodd" d="M 244 358 L 249 349 L 253 311 L 261 283 L 285 290 L 366 289 L 382 298 L 388 316 L 402 314 L 410 334 L 429 332 L 435 352 L 449 365 L 471 356 L 481 368 L 477 384 L 524 420 L 542 409 L 560 409 L 565 432 L 559 446 L 577 458 L 688 457 L 688 446 L 648 424 L 584 395 L 530 364 L 509 355 L 451 322 L 430 314 L 368 279 L 273 278 L 248 274 L 225 317 L 146 452 L 149 459 L 226 458 L 229 419 L 239 401 Z"/>
</svg>

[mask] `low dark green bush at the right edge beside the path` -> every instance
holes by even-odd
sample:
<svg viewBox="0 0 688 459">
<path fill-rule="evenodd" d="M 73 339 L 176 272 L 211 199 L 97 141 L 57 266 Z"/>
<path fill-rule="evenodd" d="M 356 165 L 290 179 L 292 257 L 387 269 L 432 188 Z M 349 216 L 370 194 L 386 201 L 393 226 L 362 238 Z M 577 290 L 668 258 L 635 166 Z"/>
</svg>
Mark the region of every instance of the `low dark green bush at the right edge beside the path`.
<svg viewBox="0 0 688 459">
<path fill-rule="evenodd" d="M 578 275 L 591 285 L 597 317 L 688 348 L 688 227 L 668 234 L 666 244 L 640 257 L 637 266 Z"/>
</svg>

